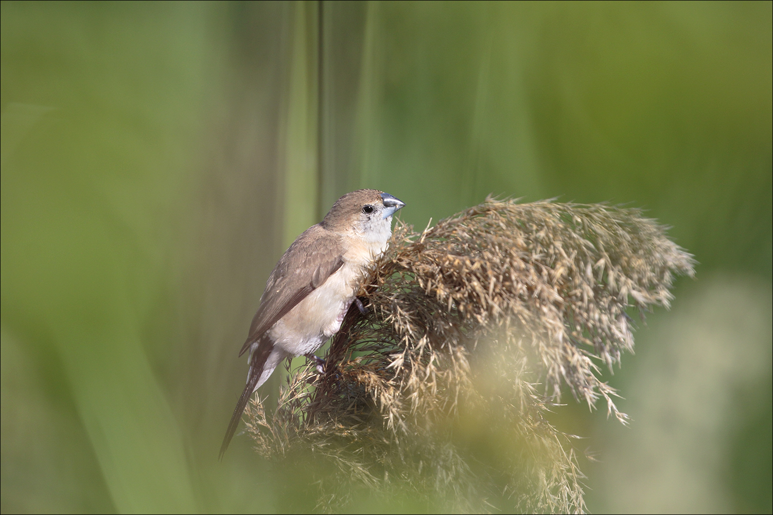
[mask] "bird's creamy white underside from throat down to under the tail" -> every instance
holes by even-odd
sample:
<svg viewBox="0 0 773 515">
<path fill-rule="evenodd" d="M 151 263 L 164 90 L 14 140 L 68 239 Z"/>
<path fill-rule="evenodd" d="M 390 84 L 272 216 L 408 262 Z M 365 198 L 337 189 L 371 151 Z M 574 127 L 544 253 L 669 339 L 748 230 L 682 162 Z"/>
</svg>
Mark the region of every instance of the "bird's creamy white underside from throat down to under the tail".
<svg viewBox="0 0 773 515">
<path fill-rule="evenodd" d="M 347 251 L 341 268 L 268 330 L 274 349 L 255 385 L 256 390 L 285 357 L 314 352 L 339 331 L 363 274 L 386 250 L 391 235 L 391 215 L 355 226 L 342 234 Z"/>
</svg>

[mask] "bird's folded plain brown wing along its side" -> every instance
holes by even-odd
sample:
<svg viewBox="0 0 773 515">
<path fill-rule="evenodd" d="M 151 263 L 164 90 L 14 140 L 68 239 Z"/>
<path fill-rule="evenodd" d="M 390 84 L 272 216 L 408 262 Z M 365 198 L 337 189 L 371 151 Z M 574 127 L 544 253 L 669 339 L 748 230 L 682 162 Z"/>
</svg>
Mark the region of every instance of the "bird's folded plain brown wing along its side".
<svg viewBox="0 0 773 515">
<path fill-rule="evenodd" d="M 298 236 L 268 277 L 261 307 L 257 308 L 250 325 L 250 336 L 239 355 L 341 268 L 342 254 L 339 237 L 322 225 L 312 225 Z"/>
</svg>

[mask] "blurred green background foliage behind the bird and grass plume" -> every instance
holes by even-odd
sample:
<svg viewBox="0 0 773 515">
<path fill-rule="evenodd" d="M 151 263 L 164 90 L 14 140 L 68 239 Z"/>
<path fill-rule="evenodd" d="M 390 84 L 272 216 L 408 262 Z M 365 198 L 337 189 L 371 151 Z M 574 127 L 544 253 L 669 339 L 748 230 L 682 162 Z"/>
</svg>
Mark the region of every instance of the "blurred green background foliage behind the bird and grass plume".
<svg viewBox="0 0 773 515">
<path fill-rule="evenodd" d="M 632 426 L 554 422 L 593 512 L 771 512 L 771 2 L 0 14 L 3 513 L 295 509 L 246 436 L 217 462 L 237 351 L 365 187 L 421 228 L 489 193 L 673 226 L 700 266 L 608 374 Z"/>
</svg>

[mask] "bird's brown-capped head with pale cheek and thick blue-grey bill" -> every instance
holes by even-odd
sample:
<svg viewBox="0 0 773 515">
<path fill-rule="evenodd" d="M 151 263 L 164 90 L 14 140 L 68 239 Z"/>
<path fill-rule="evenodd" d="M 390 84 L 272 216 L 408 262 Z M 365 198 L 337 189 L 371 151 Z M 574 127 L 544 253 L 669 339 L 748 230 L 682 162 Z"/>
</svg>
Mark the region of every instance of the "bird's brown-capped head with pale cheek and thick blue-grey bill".
<svg viewBox="0 0 773 515">
<path fill-rule="evenodd" d="M 392 235 L 392 215 L 405 205 L 399 198 L 374 189 L 361 189 L 335 202 L 322 226 L 357 235 L 369 242 L 386 243 Z"/>
</svg>

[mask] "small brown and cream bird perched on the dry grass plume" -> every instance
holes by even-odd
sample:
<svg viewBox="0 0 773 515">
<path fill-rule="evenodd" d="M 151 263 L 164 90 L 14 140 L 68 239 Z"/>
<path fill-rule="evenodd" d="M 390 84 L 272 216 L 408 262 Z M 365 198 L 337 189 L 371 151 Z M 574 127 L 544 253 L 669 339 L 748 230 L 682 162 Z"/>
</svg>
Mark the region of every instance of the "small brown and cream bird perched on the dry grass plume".
<svg viewBox="0 0 773 515">
<path fill-rule="evenodd" d="M 383 191 L 361 189 L 343 195 L 322 222 L 295 239 L 268 276 L 261 303 L 239 355 L 249 351 L 247 385 L 233 410 L 220 459 L 237 431 L 250 396 L 285 357 L 314 352 L 337 333 L 365 273 L 387 246 L 392 216 L 405 205 Z"/>
</svg>

